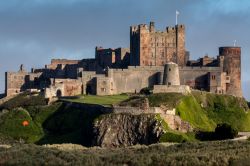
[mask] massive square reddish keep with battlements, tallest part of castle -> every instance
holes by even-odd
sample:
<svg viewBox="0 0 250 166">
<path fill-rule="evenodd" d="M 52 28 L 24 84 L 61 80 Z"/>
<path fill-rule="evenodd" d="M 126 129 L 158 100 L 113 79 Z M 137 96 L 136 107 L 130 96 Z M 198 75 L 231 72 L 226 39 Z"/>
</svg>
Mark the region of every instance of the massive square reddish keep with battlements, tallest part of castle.
<svg viewBox="0 0 250 166">
<path fill-rule="evenodd" d="M 130 65 L 163 66 L 174 62 L 186 65 L 185 26 L 156 31 L 154 22 L 130 27 Z"/>
</svg>

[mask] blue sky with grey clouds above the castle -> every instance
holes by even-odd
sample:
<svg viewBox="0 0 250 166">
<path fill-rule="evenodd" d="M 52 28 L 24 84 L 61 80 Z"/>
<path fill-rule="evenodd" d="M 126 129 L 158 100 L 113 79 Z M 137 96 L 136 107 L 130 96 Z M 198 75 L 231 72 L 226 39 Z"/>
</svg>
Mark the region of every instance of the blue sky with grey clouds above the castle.
<svg viewBox="0 0 250 166">
<path fill-rule="evenodd" d="M 250 100 L 248 0 L 0 0 L 0 92 L 4 72 L 43 67 L 51 58 L 94 57 L 95 46 L 128 47 L 129 26 L 155 21 L 160 30 L 186 25 L 192 59 L 242 47 L 242 85 Z"/>
</svg>

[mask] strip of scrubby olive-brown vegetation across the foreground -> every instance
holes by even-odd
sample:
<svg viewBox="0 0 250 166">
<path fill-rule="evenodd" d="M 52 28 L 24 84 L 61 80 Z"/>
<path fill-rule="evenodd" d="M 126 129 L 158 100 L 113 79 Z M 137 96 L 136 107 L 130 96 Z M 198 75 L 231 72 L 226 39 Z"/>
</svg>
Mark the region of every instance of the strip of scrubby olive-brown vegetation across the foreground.
<svg viewBox="0 0 250 166">
<path fill-rule="evenodd" d="M 73 145 L 72 145 L 73 146 Z M 155 144 L 127 148 L 0 147 L 0 165 L 249 165 L 248 141 Z M 59 150 L 63 149 L 63 150 Z"/>
</svg>

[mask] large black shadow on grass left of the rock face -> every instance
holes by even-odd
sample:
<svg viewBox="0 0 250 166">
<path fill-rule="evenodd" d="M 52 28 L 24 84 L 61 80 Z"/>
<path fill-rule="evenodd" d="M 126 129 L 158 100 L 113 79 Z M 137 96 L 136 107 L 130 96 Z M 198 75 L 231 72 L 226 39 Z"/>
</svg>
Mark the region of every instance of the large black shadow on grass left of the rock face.
<svg viewBox="0 0 250 166">
<path fill-rule="evenodd" d="M 42 124 L 46 134 L 36 144 L 73 143 L 89 147 L 93 122 L 102 114 L 99 109 L 83 110 L 63 103 Z"/>
</svg>

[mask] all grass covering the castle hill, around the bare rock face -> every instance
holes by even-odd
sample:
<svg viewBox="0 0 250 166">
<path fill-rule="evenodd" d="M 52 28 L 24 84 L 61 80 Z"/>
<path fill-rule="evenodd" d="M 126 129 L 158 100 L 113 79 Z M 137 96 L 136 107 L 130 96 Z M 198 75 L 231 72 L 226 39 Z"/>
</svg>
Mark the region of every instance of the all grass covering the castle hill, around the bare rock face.
<svg viewBox="0 0 250 166">
<path fill-rule="evenodd" d="M 88 96 L 70 99 L 74 102 L 110 106 L 138 106 L 144 98 L 150 106 L 176 108 L 177 114 L 188 121 L 195 129 L 213 131 L 217 124 L 228 123 L 238 131 L 250 131 L 250 113 L 244 99 L 232 96 L 193 92 L 191 95 L 152 94 L 149 96 L 115 95 Z M 47 101 L 36 94 L 21 94 L 0 106 L 0 141 L 13 138 L 15 142 L 37 144 L 75 143 L 90 146 L 93 137 L 93 123 L 103 113 L 99 110 L 82 110 L 68 103 L 56 102 L 46 105 Z M 23 122 L 29 125 L 24 126 Z M 164 125 L 165 123 L 163 123 Z M 11 140 L 11 139 L 10 139 Z M 181 134 L 168 130 L 161 142 L 192 141 L 194 134 Z"/>
</svg>

